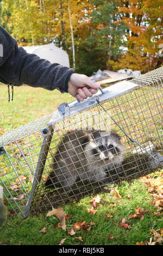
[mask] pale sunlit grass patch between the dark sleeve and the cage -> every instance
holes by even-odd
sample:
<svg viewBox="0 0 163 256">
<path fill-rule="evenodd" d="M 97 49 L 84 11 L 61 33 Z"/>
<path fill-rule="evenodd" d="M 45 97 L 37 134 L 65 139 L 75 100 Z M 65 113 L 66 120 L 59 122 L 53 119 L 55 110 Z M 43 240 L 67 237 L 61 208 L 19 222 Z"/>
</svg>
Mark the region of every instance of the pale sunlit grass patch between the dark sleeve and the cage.
<svg viewBox="0 0 163 256">
<path fill-rule="evenodd" d="M 21 86 L 14 87 L 14 100 L 8 102 L 8 87 L 0 84 L 0 89 L 0 135 L 53 113 L 63 102 L 74 100 L 70 94 L 58 90 Z"/>
</svg>

